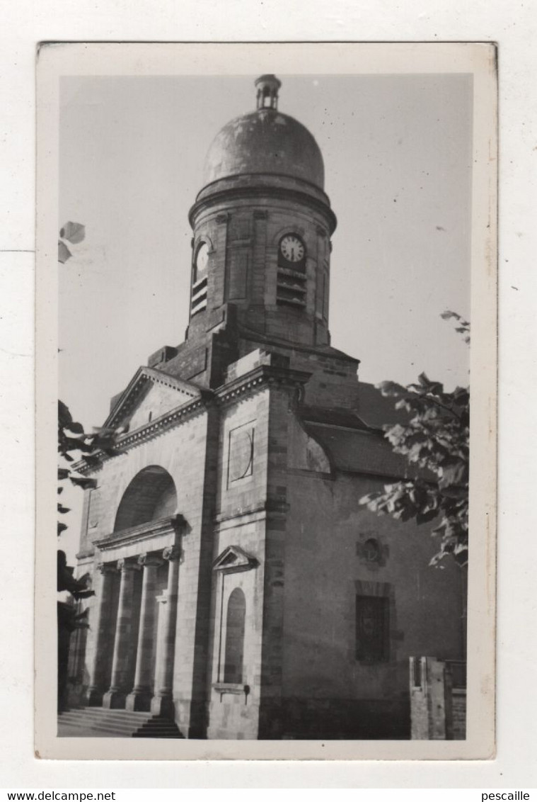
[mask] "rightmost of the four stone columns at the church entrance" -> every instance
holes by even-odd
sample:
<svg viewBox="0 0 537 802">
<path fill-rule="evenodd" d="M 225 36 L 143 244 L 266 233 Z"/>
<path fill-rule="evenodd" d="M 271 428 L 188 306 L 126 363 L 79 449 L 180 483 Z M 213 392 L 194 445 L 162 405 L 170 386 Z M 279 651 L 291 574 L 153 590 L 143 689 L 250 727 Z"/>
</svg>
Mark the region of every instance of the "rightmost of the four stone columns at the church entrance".
<svg viewBox="0 0 537 802">
<path fill-rule="evenodd" d="M 178 546 L 164 549 L 168 560 L 168 589 L 163 605 L 164 627 L 159 643 L 158 661 L 155 667 L 155 695 L 151 699 L 151 713 L 174 715 L 173 707 L 173 662 L 176 652 L 177 596 L 179 593 L 179 565 L 181 550 Z"/>
</svg>

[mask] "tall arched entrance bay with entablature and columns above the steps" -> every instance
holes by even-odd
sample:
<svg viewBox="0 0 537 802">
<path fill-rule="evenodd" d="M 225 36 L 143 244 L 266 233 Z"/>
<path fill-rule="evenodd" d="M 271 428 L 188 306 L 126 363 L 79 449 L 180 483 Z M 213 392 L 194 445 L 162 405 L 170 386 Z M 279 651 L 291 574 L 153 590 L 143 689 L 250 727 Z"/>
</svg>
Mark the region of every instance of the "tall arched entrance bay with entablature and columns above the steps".
<svg viewBox="0 0 537 802">
<path fill-rule="evenodd" d="M 96 675 L 104 674 L 107 689 L 104 707 L 149 710 L 157 691 L 168 692 L 169 672 L 158 661 L 159 655 L 168 662 L 173 656 L 164 657 L 159 634 L 168 638 L 171 605 L 166 602 L 176 594 L 177 571 L 170 563 L 176 559 L 176 509 L 176 486 L 168 471 L 159 465 L 143 468 L 123 492 L 113 532 L 96 544 L 104 560 L 113 556 L 104 562 L 103 603 L 111 597 L 107 584 L 115 587 L 116 599 L 113 609 L 101 610 L 108 623 L 99 626 L 95 650 L 101 666 Z"/>
</svg>

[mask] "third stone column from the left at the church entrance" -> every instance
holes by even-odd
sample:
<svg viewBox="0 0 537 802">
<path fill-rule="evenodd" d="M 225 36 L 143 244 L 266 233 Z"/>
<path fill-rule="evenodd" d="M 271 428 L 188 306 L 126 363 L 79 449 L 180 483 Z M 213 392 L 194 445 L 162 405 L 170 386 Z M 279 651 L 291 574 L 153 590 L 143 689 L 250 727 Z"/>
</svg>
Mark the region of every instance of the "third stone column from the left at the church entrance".
<svg viewBox="0 0 537 802">
<path fill-rule="evenodd" d="M 135 684 L 127 696 L 125 707 L 131 711 L 148 711 L 151 706 L 152 656 L 156 624 L 156 572 L 163 561 L 158 557 L 141 554 L 139 565 L 143 566 L 142 602 L 136 652 Z"/>
</svg>

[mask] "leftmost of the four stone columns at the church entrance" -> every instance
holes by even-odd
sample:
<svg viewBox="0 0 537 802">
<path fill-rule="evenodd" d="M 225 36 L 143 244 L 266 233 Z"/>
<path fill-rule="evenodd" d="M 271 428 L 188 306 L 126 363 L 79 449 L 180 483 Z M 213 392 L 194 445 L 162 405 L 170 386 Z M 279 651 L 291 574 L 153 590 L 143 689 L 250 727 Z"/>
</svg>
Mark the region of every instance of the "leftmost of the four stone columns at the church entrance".
<svg viewBox="0 0 537 802">
<path fill-rule="evenodd" d="M 111 640 L 110 608 L 114 590 L 114 578 L 118 573 L 115 564 L 111 562 L 100 563 L 97 566 L 97 570 L 102 573 L 103 578 L 95 597 L 95 622 L 92 622 L 95 638 L 93 654 L 88 666 L 90 678 L 86 692 L 88 705 L 95 707 L 99 707 L 103 703 L 103 694 L 109 681 L 109 678 L 104 674 L 104 670 L 106 669 L 108 655 L 113 648 L 113 643 L 109 642 Z M 109 662 L 108 666 L 110 666 Z"/>
</svg>

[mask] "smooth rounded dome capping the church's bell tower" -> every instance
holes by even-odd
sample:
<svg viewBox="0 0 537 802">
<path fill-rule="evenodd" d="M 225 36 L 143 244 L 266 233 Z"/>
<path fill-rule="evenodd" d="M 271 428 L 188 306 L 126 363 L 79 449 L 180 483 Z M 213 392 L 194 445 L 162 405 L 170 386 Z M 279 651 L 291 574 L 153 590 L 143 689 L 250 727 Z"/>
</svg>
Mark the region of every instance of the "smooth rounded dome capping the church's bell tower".
<svg viewBox="0 0 537 802">
<path fill-rule="evenodd" d="M 276 107 L 258 107 L 224 125 L 208 150 L 204 184 L 252 173 L 293 176 L 321 189 L 325 183 L 317 142 L 304 125 Z"/>
</svg>

